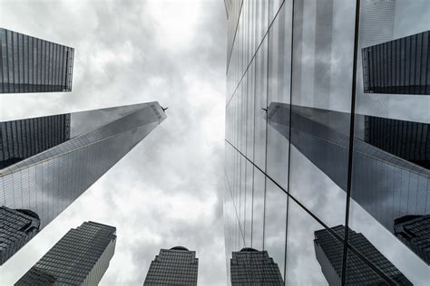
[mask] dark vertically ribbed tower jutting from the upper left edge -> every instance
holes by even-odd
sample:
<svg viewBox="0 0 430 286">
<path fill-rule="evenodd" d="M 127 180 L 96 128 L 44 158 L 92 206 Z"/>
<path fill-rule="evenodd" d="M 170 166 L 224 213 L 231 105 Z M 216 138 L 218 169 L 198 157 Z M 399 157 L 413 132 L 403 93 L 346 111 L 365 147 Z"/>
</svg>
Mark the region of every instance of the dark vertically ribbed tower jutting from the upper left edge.
<svg viewBox="0 0 430 286">
<path fill-rule="evenodd" d="M 74 49 L 0 28 L 0 93 L 72 91 Z"/>
</svg>

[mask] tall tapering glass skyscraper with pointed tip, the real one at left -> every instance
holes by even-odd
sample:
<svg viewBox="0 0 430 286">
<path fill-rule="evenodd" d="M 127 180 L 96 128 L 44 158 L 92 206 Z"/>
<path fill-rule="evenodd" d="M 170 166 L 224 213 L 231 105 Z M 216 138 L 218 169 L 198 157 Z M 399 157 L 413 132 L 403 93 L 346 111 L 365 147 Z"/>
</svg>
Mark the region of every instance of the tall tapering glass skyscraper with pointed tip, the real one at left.
<svg viewBox="0 0 430 286">
<path fill-rule="evenodd" d="M 0 206 L 31 211 L 42 230 L 165 118 L 149 102 L 2 123 L 2 156 L 17 162 L 0 169 Z"/>
</svg>

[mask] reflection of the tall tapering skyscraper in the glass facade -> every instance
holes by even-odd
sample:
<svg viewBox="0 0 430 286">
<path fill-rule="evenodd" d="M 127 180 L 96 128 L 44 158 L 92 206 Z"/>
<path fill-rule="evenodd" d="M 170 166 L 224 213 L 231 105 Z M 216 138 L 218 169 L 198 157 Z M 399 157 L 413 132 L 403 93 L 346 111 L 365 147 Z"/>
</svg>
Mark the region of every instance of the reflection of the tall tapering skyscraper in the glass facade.
<svg viewBox="0 0 430 286">
<path fill-rule="evenodd" d="M 289 138 L 289 118 L 285 116 L 289 110 L 288 104 L 278 102 L 271 102 L 268 109 L 270 127 L 285 138 Z M 345 191 L 349 136 L 342 119 L 348 116 L 339 111 L 296 106 L 291 110 L 291 120 L 296 122 L 291 128 L 291 144 Z M 430 144 L 429 125 L 362 115 L 356 115 L 356 119 L 356 126 L 361 128 L 357 128 L 354 140 L 352 198 L 391 232 L 399 216 L 411 215 L 410 212 L 428 214 L 430 202 L 425 197 L 429 171 L 413 162 L 428 162 L 425 150 Z M 396 137 L 396 132 L 402 135 Z M 406 139 L 410 144 L 400 144 Z"/>
</svg>

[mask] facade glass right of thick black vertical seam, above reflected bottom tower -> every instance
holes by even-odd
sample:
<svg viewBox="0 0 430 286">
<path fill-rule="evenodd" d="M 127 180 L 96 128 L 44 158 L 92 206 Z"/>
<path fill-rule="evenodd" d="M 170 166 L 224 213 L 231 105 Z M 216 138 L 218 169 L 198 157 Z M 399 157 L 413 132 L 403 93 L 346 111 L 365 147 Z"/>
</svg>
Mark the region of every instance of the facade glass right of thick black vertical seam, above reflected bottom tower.
<svg viewBox="0 0 430 286">
<path fill-rule="evenodd" d="M 359 17 L 349 226 L 422 284 L 430 265 L 422 251 L 430 243 L 430 2 L 362 0 Z"/>
</svg>

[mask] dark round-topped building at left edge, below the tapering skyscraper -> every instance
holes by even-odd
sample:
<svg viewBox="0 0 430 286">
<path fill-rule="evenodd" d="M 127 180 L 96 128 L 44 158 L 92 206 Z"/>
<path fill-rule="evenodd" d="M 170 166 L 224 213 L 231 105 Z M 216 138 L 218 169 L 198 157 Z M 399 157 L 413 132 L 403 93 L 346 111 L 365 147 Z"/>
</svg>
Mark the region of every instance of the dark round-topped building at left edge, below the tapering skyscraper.
<svg viewBox="0 0 430 286">
<path fill-rule="evenodd" d="M 0 207 L 0 265 L 39 232 L 40 219 L 30 210 Z"/>
</svg>

